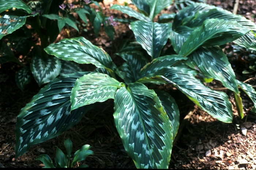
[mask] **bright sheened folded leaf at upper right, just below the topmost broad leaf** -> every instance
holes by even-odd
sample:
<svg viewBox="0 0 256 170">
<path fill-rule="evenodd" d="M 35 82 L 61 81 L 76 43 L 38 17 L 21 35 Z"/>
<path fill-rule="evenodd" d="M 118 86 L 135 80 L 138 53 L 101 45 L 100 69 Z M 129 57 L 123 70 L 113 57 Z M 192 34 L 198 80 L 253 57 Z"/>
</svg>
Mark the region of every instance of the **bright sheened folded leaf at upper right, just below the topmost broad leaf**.
<svg viewBox="0 0 256 170">
<path fill-rule="evenodd" d="M 223 45 L 240 38 L 249 31 L 236 21 L 207 19 L 201 27 L 191 33 L 182 45 L 179 54 L 187 57 L 199 46 Z"/>
</svg>

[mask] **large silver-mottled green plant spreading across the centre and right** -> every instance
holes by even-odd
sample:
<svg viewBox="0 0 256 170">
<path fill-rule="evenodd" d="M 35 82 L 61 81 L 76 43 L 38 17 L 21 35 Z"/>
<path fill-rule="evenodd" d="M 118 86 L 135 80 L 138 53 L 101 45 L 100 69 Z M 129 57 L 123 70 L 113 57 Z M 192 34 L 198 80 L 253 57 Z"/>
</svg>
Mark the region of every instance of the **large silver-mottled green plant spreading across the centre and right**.
<svg viewBox="0 0 256 170">
<path fill-rule="evenodd" d="M 99 69 L 93 73 L 63 75 L 50 82 L 33 97 L 18 116 L 16 157 L 26 152 L 31 145 L 53 138 L 70 128 L 93 107 L 94 103 L 114 98 L 116 127 L 136 167 L 167 168 L 173 138 L 178 128 L 178 108 L 169 94 L 151 90 L 148 84 L 172 84 L 213 117 L 223 122 L 231 122 L 233 115 L 227 95 L 206 87 L 195 78 L 195 75 L 200 71 L 207 77 L 220 80 L 237 95 L 237 105 L 240 108 L 242 105 L 239 103 L 241 99 L 238 85 L 253 99 L 254 89 L 235 80 L 231 66 L 225 60 L 225 54 L 217 45 L 241 38 L 255 26 L 244 18 L 227 13 L 230 15 L 230 20 L 234 19 L 238 22 L 211 19 L 211 17 L 202 19 L 205 16 L 201 16 L 199 17 L 201 25 L 198 28 L 196 26 L 190 28 L 185 26 L 184 23 L 190 21 L 184 22 L 187 20 L 184 16 L 188 16 L 191 8 L 197 9 L 192 12 L 197 17 L 203 9 L 206 13 L 211 8 L 221 11 L 219 8 L 205 4 L 192 5 L 197 5 L 197 8 L 189 6 L 182 9 L 174 17 L 173 24 L 132 22 L 131 28 L 136 40 L 150 57 L 143 57 L 142 53 L 137 51 L 119 53 L 118 55 L 126 62 L 118 68 L 108 54 L 82 37 L 64 39 L 48 46 L 45 49 L 48 54 L 68 61 L 93 63 Z M 220 16 L 225 12 L 222 11 Z M 189 16 L 192 16 L 191 21 L 198 19 L 193 15 Z M 179 29 L 173 26 L 175 24 Z M 177 32 L 181 35 L 177 35 Z M 168 38 L 176 54 L 159 57 Z M 253 36 L 249 38 L 253 39 Z M 202 65 L 204 60 L 200 59 L 201 56 L 216 58 L 206 60 L 207 62 Z M 216 70 L 214 64 L 218 64 L 222 69 L 218 67 Z"/>
</svg>

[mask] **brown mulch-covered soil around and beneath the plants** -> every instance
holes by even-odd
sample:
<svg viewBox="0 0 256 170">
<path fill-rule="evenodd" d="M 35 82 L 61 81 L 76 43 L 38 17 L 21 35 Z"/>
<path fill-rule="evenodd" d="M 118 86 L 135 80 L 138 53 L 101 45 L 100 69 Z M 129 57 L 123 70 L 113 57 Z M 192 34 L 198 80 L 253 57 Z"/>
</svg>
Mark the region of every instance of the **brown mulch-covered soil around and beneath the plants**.
<svg viewBox="0 0 256 170">
<path fill-rule="evenodd" d="M 128 16 L 118 11 L 109 10 L 110 5 L 124 4 L 124 0 L 103 0 L 99 3 L 106 16 Z M 233 11 L 234 0 L 208 0 L 206 3 L 216 5 Z M 132 6 L 130 4 L 130 6 Z M 98 9 L 95 6 L 95 9 Z M 237 13 L 255 22 L 256 1 L 240 1 Z M 169 11 L 168 11 L 169 10 Z M 175 11 L 174 7 L 165 9 L 168 13 Z M 255 22 L 256 23 L 256 22 Z M 113 59 L 117 66 L 123 63 L 116 57 L 118 47 L 124 39 L 134 39 L 132 31 L 127 24 L 118 24 L 115 27 L 116 35 L 111 42 L 102 29 L 95 37 L 92 26 L 85 27 L 88 31 L 78 33 L 73 29 L 63 29 L 56 42 L 63 38 L 83 36 L 94 45 L 103 48 Z M 227 45 L 226 49 L 231 47 Z M 255 85 L 255 72 L 249 75 L 242 74 L 249 65 L 236 57 L 230 58 L 238 80 L 247 81 Z M 26 63 L 26 61 L 25 61 Z M 81 65 L 87 71 L 93 70 L 93 65 Z M 15 158 L 15 123 L 20 109 L 25 107 L 31 98 L 38 93 L 39 87 L 33 80 L 24 92 L 16 86 L 15 73 L 20 69 L 15 63 L 0 65 L 0 167 L 43 167 L 41 161 L 35 161 L 41 154 L 48 154 L 53 160 L 56 148 L 65 150 L 63 141 L 70 138 L 73 142 L 73 151 L 80 149 L 84 144 L 92 146 L 94 155 L 89 155 L 79 165 L 89 165 L 91 168 L 135 168 L 132 159 L 124 150 L 120 136 L 117 133 L 113 120 L 113 100 L 107 100 L 86 113 L 83 119 L 74 127 L 56 138 L 39 143 L 21 157 Z M 238 116 L 234 96 L 223 88 L 218 81 L 207 84 L 212 89 L 226 92 L 233 105 L 234 119 L 232 123 L 222 123 L 212 118 L 202 109 L 193 104 L 184 94 L 171 85 L 159 85 L 172 94 L 180 109 L 180 129 L 173 144 L 170 169 L 256 169 L 256 115 L 250 112 L 253 104 L 241 92 L 244 104 L 245 117 Z M 185 103 L 185 105 L 184 105 Z"/>
</svg>

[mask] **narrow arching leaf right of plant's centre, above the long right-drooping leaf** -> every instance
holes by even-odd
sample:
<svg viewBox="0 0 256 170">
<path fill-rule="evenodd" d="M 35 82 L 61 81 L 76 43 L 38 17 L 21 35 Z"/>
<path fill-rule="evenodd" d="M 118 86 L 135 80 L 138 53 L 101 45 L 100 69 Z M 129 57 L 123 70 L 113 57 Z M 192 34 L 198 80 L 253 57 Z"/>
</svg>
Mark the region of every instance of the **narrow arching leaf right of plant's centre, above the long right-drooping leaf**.
<svg viewBox="0 0 256 170">
<path fill-rule="evenodd" d="M 156 59 L 153 59 L 152 62 L 147 63 L 147 65 L 145 65 L 141 69 L 139 78 L 145 77 L 151 73 L 154 74 L 155 72 L 158 72 L 162 68 L 170 67 L 170 66 L 176 64 L 177 62 L 179 62 L 181 60 L 185 60 L 185 59 L 187 59 L 187 57 L 184 57 L 182 55 L 166 55 L 163 57 L 158 57 Z"/>
</svg>

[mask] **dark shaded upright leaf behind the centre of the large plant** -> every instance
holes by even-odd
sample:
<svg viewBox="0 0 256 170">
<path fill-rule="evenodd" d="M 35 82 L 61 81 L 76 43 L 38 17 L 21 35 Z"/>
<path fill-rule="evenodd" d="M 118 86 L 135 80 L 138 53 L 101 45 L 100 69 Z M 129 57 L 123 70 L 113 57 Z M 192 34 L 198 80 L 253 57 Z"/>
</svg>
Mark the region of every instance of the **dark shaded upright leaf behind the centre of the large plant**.
<svg viewBox="0 0 256 170">
<path fill-rule="evenodd" d="M 118 70 L 126 84 L 135 82 L 139 77 L 140 69 L 148 63 L 140 51 L 117 53 L 126 62 Z"/>
</svg>

